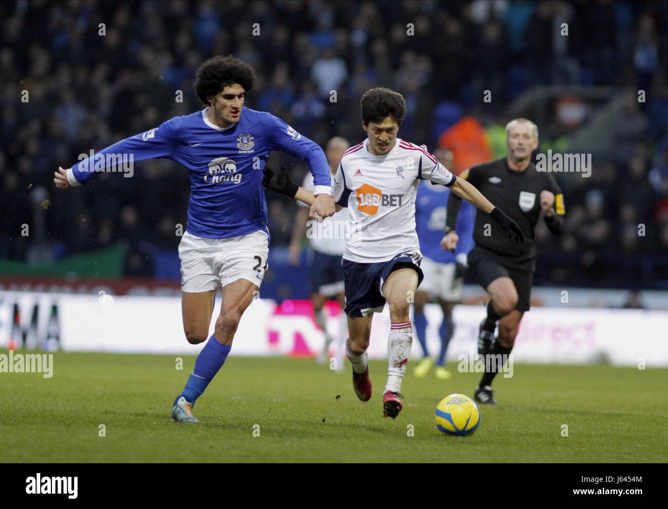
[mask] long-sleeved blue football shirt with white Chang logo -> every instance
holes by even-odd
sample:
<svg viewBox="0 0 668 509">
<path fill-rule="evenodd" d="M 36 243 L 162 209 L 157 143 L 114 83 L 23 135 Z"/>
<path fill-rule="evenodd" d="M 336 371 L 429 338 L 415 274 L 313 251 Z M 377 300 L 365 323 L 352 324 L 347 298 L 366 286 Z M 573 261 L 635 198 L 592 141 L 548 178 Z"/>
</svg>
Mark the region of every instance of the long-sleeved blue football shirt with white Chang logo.
<svg viewBox="0 0 668 509">
<path fill-rule="evenodd" d="M 121 155 L 131 162 L 176 161 L 190 171 L 186 229 L 204 238 L 228 238 L 266 228 L 262 178 L 272 150 L 305 160 L 313 173 L 316 194 L 331 194 L 325 153 L 283 120 L 244 107 L 239 122 L 220 128 L 209 122 L 207 110 L 174 117 L 100 150 L 72 166 L 67 179 L 73 185 L 83 184 L 96 172 L 113 171 Z"/>
</svg>

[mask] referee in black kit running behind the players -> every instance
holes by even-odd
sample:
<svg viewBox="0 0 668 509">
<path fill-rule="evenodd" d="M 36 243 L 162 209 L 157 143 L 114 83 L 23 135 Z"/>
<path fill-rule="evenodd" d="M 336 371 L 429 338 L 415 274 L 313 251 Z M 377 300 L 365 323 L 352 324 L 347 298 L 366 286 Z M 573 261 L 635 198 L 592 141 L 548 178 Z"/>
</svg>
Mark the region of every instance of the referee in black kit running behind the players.
<svg viewBox="0 0 668 509">
<path fill-rule="evenodd" d="M 473 230 L 476 245 L 468 254 L 468 266 L 474 281 L 491 298 L 487 316 L 480 323 L 478 353 L 492 354 L 495 355 L 492 360 L 504 361 L 507 357 L 496 356 L 510 354 L 522 315 L 530 308 L 535 269 L 534 228 L 538 218 L 542 214 L 550 232 L 558 235 L 564 214 L 564 196 L 556 180 L 548 172 L 538 172 L 531 162 L 531 154 L 538 148 L 536 124 L 526 118 L 511 120 L 506 126 L 506 144 L 506 158 L 477 164 L 461 175 L 514 219 L 526 236 L 525 242 L 511 242 L 506 234 L 494 229 L 489 214 L 476 211 Z M 450 196 L 446 236 L 442 240 L 446 250 L 454 249 L 459 240 L 455 226 L 461 204 L 461 198 Z M 497 321 L 499 335 L 494 337 Z M 499 365 L 490 363 L 476 389 L 476 401 L 496 404 L 492 380 L 502 364 L 503 361 Z"/>
</svg>

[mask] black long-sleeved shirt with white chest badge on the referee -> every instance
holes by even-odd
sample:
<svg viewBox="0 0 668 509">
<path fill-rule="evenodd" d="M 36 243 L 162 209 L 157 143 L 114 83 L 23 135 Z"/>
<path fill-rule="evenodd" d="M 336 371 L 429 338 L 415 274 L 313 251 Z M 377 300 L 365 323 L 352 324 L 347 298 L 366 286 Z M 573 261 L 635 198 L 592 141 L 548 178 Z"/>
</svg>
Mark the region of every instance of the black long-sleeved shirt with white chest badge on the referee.
<svg viewBox="0 0 668 509">
<path fill-rule="evenodd" d="M 526 235 L 524 242 L 511 242 L 489 214 L 476 209 L 473 229 L 476 246 L 482 246 L 500 257 L 510 258 L 512 260 L 508 261 L 512 261 L 513 265 L 532 271 L 535 254 L 534 229 L 541 212 L 540 192 L 552 192 L 556 214 L 564 214 L 564 196 L 552 174 L 538 172 L 533 163 L 524 171 L 516 172 L 510 169 L 506 158 L 503 158 L 472 166 L 460 177 L 473 184 L 492 205 L 506 212 Z M 457 224 L 461 204 L 462 198 L 453 193 L 448 200 L 447 224 L 450 228 L 455 228 Z M 558 223 L 560 226 L 560 218 Z"/>
</svg>

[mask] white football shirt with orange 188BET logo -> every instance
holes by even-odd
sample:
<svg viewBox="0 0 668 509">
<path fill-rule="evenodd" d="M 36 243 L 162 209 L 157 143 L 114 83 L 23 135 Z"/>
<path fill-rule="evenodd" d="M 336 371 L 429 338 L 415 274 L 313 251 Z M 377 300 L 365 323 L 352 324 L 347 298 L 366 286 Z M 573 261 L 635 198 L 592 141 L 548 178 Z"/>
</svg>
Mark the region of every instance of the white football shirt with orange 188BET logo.
<svg viewBox="0 0 668 509">
<path fill-rule="evenodd" d="M 415 232 L 415 196 L 420 179 L 452 186 L 456 177 L 426 147 L 397 138 L 381 156 L 367 150 L 367 138 L 343 154 L 333 178 L 334 200 L 348 208 L 350 234 L 343 258 L 359 263 L 420 253 Z"/>
</svg>

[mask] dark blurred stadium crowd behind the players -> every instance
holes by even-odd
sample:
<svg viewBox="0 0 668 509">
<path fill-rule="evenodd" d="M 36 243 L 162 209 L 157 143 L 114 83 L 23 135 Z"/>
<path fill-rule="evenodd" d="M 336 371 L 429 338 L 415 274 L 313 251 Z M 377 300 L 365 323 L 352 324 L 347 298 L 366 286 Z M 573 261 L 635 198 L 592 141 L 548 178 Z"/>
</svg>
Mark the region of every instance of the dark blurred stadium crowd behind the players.
<svg viewBox="0 0 668 509">
<path fill-rule="evenodd" d="M 538 151 L 593 156 L 591 178 L 555 174 L 564 234 L 539 223 L 536 285 L 668 289 L 665 1 L 13 1 L 0 20 L 0 276 L 152 277 L 178 288 L 185 168 L 140 162 L 133 178 L 100 174 L 65 192 L 53 172 L 202 109 L 198 65 L 233 54 L 257 69 L 246 106 L 321 146 L 363 140 L 359 99 L 373 86 L 405 96 L 401 138 L 446 146 L 456 164 L 504 155 L 506 122 L 534 120 Z M 281 157 L 301 179 L 303 164 Z M 263 297 L 306 297 L 295 284 L 305 266 L 287 261 L 296 206 L 268 200 Z"/>
</svg>

